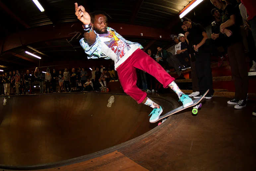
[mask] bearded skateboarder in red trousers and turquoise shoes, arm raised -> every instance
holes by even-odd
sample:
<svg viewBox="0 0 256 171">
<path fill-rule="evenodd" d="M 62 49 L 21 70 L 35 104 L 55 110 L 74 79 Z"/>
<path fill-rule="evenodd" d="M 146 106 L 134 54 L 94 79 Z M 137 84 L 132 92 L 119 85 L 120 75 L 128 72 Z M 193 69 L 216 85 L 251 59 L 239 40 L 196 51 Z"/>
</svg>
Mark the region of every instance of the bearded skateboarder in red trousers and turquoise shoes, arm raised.
<svg viewBox="0 0 256 171">
<path fill-rule="evenodd" d="M 83 23 L 84 37 L 80 44 L 90 57 L 111 58 L 115 62 L 115 70 L 124 92 L 138 103 L 144 103 L 153 108 L 150 122 L 158 120 L 162 108 L 147 97 L 137 85 L 136 68 L 155 77 L 165 88 L 170 87 L 183 103 L 183 107 L 193 104 L 191 98 L 185 95 L 172 78 L 154 59 L 149 57 L 139 43 L 124 39 L 114 29 L 107 27 L 107 15 L 103 11 L 87 13 L 83 6 L 75 3 L 75 15 Z"/>
</svg>

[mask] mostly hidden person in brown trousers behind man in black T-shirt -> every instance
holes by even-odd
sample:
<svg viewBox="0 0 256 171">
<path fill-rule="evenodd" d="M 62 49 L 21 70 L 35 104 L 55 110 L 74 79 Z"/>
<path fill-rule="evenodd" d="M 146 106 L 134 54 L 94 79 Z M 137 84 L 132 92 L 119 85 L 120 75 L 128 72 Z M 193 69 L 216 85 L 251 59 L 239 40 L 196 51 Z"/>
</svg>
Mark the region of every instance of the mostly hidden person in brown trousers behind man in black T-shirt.
<svg viewBox="0 0 256 171">
<path fill-rule="evenodd" d="M 185 32 L 187 32 L 187 27 L 185 26 L 185 25 L 181 25 L 181 28 L 185 31 Z M 188 32 L 187 32 L 188 33 Z M 190 49 L 188 49 L 188 51 L 191 51 L 192 50 L 192 47 L 189 45 L 189 41 L 188 41 L 188 38 L 187 38 L 187 34 L 185 34 L 184 35 L 184 38 L 185 38 L 185 40 L 186 40 L 186 42 L 187 42 L 187 44 L 188 44 L 188 48 L 190 48 Z M 191 44 L 191 42 L 190 42 L 190 44 Z M 193 50 L 192 50 L 193 51 Z M 193 57 L 194 57 L 194 59 L 192 60 L 192 58 L 191 58 L 191 54 L 189 54 L 189 56 L 190 56 L 190 67 L 191 67 L 191 78 L 192 78 L 192 93 L 191 94 L 189 94 L 188 96 L 189 97 L 193 97 L 193 96 L 197 96 L 200 92 L 199 92 L 199 87 L 198 87 L 198 77 L 197 77 L 197 73 L 196 73 L 196 62 L 195 62 L 195 56 L 194 56 L 194 54 L 192 53 L 192 55 L 193 55 Z"/>
</svg>

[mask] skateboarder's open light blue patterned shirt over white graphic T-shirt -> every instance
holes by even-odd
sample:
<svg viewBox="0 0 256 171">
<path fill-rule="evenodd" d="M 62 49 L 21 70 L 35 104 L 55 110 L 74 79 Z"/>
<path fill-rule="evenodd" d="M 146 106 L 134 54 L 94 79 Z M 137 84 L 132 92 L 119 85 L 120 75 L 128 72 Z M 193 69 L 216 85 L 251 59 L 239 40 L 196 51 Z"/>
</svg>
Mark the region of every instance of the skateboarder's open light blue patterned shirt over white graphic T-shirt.
<svg viewBox="0 0 256 171">
<path fill-rule="evenodd" d="M 117 39 L 122 40 L 122 41 L 125 42 L 127 45 L 132 45 L 132 44 L 134 44 L 134 45 L 138 46 L 138 48 L 140 48 L 140 49 L 143 48 L 142 45 L 140 45 L 139 43 L 134 43 L 134 42 L 131 42 L 131 41 L 128 41 L 128 40 L 124 39 L 120 34 L 118 34 L 114 29 L 112 29 L 112 28 L 110 28 L 110 27 L 107 27 L 107 31 L 108 31 L 108 33 L 110 33 L 110 32 L 114 33 L 114 36 L 116 36 Z M 95 32 L 95 31 L 94 31 L 94 32 Z M 95 32 L 95 33 L 96 33 L 96 32 Z M 102 34 L 100 34 L 100 35 L 102 35 Z M 89 55 L 88 59 L 91 59 L 91 58 L 93 58 L 93 59 L 96 59 L 96 58 L 106 58 L 106 59 L 110 59 L 109 56 L 106 56 L 105 54 L 103 54 L 103 53 L 101 52 L 101 48 L 102 48 L 101 43 L 102 43 L 102 42 L 101 42 L 101 40 L 100 40 L 99 37 L 100 37 L 99 34 L 96 33 L 96 41 L 95 41 L 95 43 L 94 43 L 92 46 L 89 46 L 89 44 L 84 41 L 84 38 L 82 38 L 82 39 L 80 40 L 80 44 L 81 44 L 81 46 L 83 47 L 83 49 L 85 50 L 85 53 Z M 123 47 L 123 48 L 125 48 L 125 47 Z M 122 49 L 121 49 L 121 50 L 122 50 Z M 116 57 L 116 58 L 117 58 L 117 61 L 119 61 L 119 58 L 121 58 L 121 57 L 122 57 L 121 55 L 120 55 L 120 56 L 117 56 L 117 57 Z M 113 58 L 112 58 L 112 59 L 113 59 Z"/>
</svg>

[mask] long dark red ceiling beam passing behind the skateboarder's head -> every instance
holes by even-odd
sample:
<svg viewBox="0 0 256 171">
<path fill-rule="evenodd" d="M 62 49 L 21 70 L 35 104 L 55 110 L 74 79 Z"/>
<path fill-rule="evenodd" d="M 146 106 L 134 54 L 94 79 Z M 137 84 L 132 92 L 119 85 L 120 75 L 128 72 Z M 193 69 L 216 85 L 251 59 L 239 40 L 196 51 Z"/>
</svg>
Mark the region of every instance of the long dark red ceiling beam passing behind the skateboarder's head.
<svg viewBox="0 0 256 171">
<path fill-rule="evenodd" d="M 74 33 L 78 31 L 83 33 L 81 25 L 82 24 L 80 22 L 58 23 L 55 25 L 55 27 L 53 27 L 52 25 L 45 25 L 26 29 L 20 31 L 19 33 L 7 35 L 5 37 L 5 43 L 3 44 L 2 52 L 32 43 L 72 38 L 74 36 Z M 120 23 L 109 23 L 109 27 L 114 28 L 123 37 L 156 39 L 166 41 L 171 40 L 169 36 L 169 31 L 164 29 Z M 143 33 L 143 36 L 141 36 L 141 33 Z M 20 41 L 17 41 L 17 37 L 20 37 Z M 80 36 L 78 39 L 80 38 L 82 38 L 82 36 Z"/>
</svg>

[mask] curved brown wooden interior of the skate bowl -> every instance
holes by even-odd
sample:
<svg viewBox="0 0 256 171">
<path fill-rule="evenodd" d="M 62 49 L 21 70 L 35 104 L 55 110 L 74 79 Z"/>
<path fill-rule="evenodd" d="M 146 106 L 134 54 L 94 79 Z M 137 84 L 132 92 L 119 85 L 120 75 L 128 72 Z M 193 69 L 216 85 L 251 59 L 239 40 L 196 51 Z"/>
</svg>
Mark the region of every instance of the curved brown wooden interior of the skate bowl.
<svg viewBox="0 0 256 171">
<path fill-rule="evenodd" d="M 114 102 L 107 107 L 111 96 Z M 90 159 L 159 130 L 157 123 L 149 123 L 152 108 L 124 94 L 57 93 L 0 100 L 1 169 L 43 169 Z M 163 113 L 178 105 L 161 97 L 154 100 L 164 107 Z"/>
</svg>

